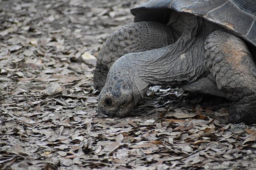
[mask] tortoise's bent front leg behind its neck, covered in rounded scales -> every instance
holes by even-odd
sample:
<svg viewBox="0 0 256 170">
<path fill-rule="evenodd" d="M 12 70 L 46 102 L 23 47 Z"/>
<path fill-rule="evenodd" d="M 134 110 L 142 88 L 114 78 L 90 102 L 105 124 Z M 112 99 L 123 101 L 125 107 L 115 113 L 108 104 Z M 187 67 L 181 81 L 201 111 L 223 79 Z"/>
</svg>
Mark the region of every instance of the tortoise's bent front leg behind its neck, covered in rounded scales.
<svg viewBox="0 0 256 170">
<path fill-rule="evenodd" d="M 177 35 L 156 22 L 128 23 L 114 31 L 103 44 L 94 71 L 94 88 L 102 90 L 112 64 L 128 53 L 158 49 L 174 43 Z"/>
</svg>

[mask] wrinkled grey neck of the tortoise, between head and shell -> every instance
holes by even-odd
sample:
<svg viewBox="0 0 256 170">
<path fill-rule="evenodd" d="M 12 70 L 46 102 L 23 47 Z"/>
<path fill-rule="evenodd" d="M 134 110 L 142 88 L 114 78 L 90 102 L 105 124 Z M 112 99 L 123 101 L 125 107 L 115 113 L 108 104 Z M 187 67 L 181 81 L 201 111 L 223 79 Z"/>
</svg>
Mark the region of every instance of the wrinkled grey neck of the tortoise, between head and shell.
<svg viewBox="0 0 256 170">
<path fill-rule="evenodd" d="M 146 95 L 151 85 L 175 85 L 193 81 L 193 75 L 187 72 L 184 65 L 190 64 L 184 53 L 195 41 L 200 23 L 196 16 L 186 14 L 186 27 L 174 44 L 124 55 L 112 65 L 109 74 L 119 75 L 130 81 L 135 103 Z"/>
</svg>

